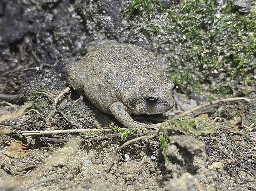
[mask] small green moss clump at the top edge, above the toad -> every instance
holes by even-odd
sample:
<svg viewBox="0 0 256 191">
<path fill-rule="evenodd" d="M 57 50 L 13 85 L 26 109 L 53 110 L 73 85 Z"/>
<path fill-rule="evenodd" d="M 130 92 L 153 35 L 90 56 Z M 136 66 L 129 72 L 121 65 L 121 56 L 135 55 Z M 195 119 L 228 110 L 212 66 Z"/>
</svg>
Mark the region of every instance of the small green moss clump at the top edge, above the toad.
<svg viewBox="0 0 256 191">
<path fill-rule="evenodd" d="M 143 15 L 144 12 L 149 15 L 153 9 L 161 12 L 164 11 L 158 0 L 133 0 L 126 11 L 125 16 L 130 17 L 132 14 Z"/>
</svg>

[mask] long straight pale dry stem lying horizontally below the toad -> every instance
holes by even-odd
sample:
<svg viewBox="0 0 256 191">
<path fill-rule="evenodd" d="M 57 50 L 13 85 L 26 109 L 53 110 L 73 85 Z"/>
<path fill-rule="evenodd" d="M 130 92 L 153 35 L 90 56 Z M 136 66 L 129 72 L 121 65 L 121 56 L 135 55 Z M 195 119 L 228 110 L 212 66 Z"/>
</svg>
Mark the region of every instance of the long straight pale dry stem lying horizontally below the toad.
<svg viewBox="0 0 256 191">
<path fill-rule="evenodd" d="M 121 128 L 122 131 L 127 128 Z M 55 134 L 55 133 L 80 133 L 80 132 L 110 132 L 113 129 L 63 129 L 49 131 L 22 131 L 24 135 Z"/>
</svg>

